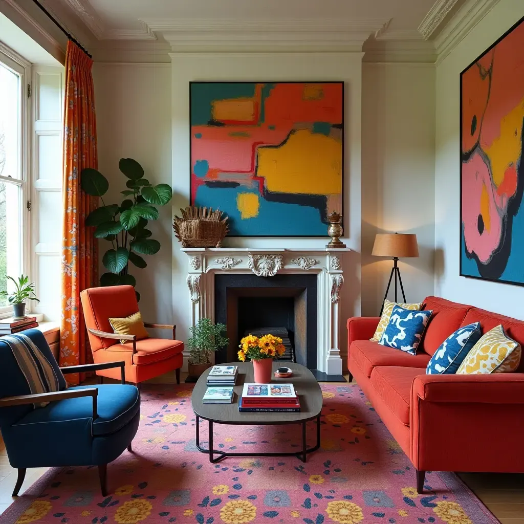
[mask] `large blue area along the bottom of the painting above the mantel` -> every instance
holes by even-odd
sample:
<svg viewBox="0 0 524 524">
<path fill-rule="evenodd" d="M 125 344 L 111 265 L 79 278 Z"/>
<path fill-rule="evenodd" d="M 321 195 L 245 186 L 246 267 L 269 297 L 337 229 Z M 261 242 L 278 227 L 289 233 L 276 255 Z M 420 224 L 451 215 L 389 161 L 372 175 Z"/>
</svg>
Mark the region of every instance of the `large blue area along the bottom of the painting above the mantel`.
<svg viewBox="0 0 524 524">
<path fill-rule="evenodd" d="M 201 185 L 196 190 L 194 205 L 209 205 L 216 201 L 212 188 Z M 249 193 L 245 187 L 220 190 L 219 209 L 228 216 L 230 235 L 234 236 L 326 236 L 326 224 L 322 223 L 319 210 L 309 206 L 283 202 L 270 202 L 258 194 L 260 206 L 258 216 L 241 219 L 236 205 L 239 193 Z"/>
</svg>

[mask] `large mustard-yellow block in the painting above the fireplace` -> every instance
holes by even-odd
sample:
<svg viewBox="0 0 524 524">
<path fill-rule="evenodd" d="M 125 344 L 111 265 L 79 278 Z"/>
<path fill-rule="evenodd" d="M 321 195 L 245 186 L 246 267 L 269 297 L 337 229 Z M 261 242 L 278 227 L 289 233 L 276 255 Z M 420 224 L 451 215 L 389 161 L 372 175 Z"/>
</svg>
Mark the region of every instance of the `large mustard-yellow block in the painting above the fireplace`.
<svg viewBox="0 0 524 524">
<path fill-rule="evenodd" d="M 321 133 L 301 129 L 278 148 L 258 149 L 257 175 L 269 191 L 302 194 L 342 192 L 342 144 Z"/>
</svg>

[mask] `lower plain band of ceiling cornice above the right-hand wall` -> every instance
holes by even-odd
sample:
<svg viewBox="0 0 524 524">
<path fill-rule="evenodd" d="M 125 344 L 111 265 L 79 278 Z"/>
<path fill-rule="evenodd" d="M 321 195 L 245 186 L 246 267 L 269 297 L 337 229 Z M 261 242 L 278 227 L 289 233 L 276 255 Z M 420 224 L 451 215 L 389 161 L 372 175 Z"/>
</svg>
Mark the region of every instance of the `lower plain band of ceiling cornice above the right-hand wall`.
<svg viewBox="0 0 524 524">
<path fill-rule="evenodd" d="M 468 0 L 435 38 L 438 55 L 436 63 L 442 62 L 498 2 L 499 0 Z"/>
</svg>

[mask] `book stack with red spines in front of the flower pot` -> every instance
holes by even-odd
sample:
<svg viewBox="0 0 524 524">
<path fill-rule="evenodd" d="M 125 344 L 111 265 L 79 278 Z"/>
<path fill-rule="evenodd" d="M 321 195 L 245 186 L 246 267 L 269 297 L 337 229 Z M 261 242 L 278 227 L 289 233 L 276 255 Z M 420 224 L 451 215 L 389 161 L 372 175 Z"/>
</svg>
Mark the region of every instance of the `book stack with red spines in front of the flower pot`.
<svg viewBox="0 0 524 524">
<path fill-rule="evenodd" d="M 244 384 L 238 410 L 298 413 L 300 400 L 292 384 Z"/>
</svg>

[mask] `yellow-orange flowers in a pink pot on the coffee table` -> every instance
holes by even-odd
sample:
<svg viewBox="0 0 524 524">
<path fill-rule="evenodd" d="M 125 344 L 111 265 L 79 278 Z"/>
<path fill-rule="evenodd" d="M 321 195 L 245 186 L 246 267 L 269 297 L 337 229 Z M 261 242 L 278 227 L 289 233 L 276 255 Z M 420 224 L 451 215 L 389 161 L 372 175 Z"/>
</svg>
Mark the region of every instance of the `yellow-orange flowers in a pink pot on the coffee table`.
<svg viewBox="0 0 524 524">
<path fill-rule="evenodd" d="M 238 346 L 238 360 L 249 358 L 253 362 L 253 374 L 257 384 L 271 382 L 273 359 L 281 357 L 286 348 L 278 336 L 267 334 L 264 336 L 247 335 Z"/>
</svg>

